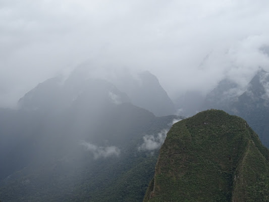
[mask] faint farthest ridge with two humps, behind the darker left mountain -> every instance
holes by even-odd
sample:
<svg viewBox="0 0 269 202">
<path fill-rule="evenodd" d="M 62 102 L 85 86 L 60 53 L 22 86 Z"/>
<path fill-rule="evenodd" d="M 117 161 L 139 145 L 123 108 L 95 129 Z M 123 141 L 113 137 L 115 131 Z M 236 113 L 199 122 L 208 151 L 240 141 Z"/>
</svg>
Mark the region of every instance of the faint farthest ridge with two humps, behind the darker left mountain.
<svg viewBox="0 0 269 202">
<path fill-rule="evenodd" d="M 75 69 L 67 79 L 55 77 L 38 84 L 19 100 L 19 106 L 23 109 L 59 111 L 68 108 L 81 93 L 89 91 L 90 94 L 94 90 L 104 92 L 103 89 L 109 85 L 113 87 L 106 93 L 114 102 L 130 102 L 156 116 L 175 114 L 172 100 L 150 72 L 124 72 L 98 78 L 84 66 Z M 115 100 L 119 98 L 121 100 Z"/>
</svg>

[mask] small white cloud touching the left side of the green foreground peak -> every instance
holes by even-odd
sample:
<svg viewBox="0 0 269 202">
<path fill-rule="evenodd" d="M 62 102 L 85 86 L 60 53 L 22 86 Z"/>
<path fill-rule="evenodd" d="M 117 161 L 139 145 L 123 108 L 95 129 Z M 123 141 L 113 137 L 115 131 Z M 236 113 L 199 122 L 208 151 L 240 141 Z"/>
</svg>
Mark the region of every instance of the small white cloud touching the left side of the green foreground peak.
<svg viewBox="0 0 269 202">
<path fill-rule="evenodd" d="M 164 129 L 157 135 L 145 135 L 143 137 L 143 143 L 138 147 L 138 150 L 153 151 L 158 149 L 164 143 L 168 130 Z"/>
</svg>

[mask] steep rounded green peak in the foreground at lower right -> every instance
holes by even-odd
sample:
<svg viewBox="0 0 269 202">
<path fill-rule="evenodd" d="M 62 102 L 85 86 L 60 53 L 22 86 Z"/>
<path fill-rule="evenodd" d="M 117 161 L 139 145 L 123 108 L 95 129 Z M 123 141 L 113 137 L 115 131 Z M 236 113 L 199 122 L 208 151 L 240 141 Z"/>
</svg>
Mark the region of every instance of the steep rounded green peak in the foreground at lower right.
<svg viewBox="0 0 269 202">
<path fill-rule="evenodd" d="M 144 201 L 268 201 L 268 159 L 243 119 L 198 113 L 168 132 Z"/>
</svg>

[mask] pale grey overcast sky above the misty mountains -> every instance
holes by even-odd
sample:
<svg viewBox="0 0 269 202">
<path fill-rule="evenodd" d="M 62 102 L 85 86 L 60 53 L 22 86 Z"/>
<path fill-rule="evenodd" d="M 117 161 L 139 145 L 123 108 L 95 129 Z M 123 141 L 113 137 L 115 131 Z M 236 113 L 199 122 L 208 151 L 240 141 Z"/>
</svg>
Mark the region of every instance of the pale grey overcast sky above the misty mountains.
<svg viewBox="0 0 269 202">
<path fill-rule="evenodd" d="M 149 70 L 171 96 L 244 83 L 269 44 L 267 0 L 0 0 L 0 106 L 84 61 Z"/>
</svg>

